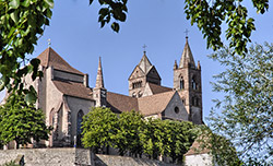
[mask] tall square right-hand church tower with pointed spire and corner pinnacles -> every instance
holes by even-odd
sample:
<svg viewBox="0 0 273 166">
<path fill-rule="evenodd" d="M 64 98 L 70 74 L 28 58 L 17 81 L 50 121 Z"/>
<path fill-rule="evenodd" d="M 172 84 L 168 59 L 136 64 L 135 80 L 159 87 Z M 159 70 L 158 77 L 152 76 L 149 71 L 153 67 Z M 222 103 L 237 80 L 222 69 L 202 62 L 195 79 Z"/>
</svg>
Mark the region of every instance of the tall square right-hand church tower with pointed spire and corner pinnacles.
<svg viewBox="0 0 273 166">
<path fill-rule="evenodd" d="M 174 90 L 178 91 L 189 114 L 189 120 L 202 123 L 201 66 L 195 66 L 188 36 L 179 62 L 174 64 Z"/>
</svg>

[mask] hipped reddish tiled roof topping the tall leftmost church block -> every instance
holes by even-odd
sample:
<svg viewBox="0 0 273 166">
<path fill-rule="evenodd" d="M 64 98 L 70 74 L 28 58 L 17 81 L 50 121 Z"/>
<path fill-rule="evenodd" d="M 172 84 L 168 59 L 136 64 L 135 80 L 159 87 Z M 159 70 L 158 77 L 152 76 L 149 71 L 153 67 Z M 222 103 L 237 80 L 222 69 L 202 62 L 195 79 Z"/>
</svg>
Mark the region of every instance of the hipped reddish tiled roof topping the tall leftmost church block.
<svg viewBox="0 0 273 166">
<path fill-rule="evenodd" d="M 63 60 L 51 47 L 44 50 L 37 59 L 40 60 L 40 66 L 50 67 L 52 66 L 57 70 L 67 71 L 83 75 L 83 73 L 73 67 L 71 67 L 66 60 Z"/>
</svg>

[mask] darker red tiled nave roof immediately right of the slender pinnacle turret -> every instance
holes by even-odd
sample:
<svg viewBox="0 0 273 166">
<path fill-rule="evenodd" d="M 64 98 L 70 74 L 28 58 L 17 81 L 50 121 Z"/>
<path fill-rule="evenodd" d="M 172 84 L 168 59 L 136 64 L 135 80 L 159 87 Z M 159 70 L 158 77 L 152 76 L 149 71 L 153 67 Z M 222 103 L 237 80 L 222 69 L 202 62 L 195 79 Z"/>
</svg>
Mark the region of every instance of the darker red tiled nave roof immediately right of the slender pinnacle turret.
<svg viewBox="0 0 273 166">
<path fill-rule="evenodd" d="M 139 110 L 138 107 L 138 98 L 107 92 L 107 103 L 108 107 L 111 108 L 112 111 L 130 111 L 130 110 Z"/>
</svg>

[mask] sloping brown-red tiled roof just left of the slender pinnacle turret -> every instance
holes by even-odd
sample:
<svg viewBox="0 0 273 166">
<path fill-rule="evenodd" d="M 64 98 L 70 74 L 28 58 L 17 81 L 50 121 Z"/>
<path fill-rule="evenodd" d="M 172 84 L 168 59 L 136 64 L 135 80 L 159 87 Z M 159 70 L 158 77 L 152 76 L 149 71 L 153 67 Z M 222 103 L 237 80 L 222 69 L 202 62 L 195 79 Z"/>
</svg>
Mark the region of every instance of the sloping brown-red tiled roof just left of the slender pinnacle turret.
<svg viewBox="0 0 273 166">
<path fill-rule="evenodd" d="M 82 83 L 70 82 L 70 81 L 52 81 L 56 87 L 63 94 L 85 99 L 92 99 L 92 90 L 84 86 Z"/>
</svg>

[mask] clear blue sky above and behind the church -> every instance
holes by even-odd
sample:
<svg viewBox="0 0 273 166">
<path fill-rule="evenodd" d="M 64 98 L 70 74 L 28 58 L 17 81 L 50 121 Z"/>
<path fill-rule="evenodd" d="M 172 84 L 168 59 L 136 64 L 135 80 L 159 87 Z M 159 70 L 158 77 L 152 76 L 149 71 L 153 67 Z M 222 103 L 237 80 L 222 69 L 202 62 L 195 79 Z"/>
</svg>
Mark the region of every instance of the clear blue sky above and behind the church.
<svg viewBox="0 0 273 166">
<path fill-rule="evenodd" d="M 212 54 L 206 49 L 206 40 L 197 26 L 186 20 L 183 0 L 129 0 L 127 21 L 120 24 L 118 34 L 109 25 L 100 28 L 98 7 L 96 0 L 91 7 L 88 0 L 56 0 L 50 26 L 38 40 L 33 57 L 48 47 L 50 38 L 51 47 L 64 60 L 90 74 L 90 86 L 94 87 L 100 56 L 106 88 L 128 94 L 128 78 L 139 63 L 145 44 L 147 57 L 162 76 L 162 85 L 173 87 L 174 61 L 181 57 L 183 32 L 188 28 L 194 60 L 200 60 L 202 67 L 203 115 L 209 115 L 212 99 L 221 96 L 212 92 L 210 82 L 222 69 L 206 57 Z M 248 7 L 257 26 L 252 42 L 272 43 L 273 2 L 270 1 L 270 11 L 264 15 L 257 14 L 251 3 Z"/>
</svg>

